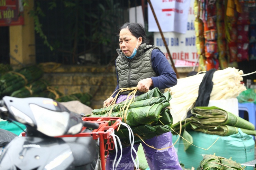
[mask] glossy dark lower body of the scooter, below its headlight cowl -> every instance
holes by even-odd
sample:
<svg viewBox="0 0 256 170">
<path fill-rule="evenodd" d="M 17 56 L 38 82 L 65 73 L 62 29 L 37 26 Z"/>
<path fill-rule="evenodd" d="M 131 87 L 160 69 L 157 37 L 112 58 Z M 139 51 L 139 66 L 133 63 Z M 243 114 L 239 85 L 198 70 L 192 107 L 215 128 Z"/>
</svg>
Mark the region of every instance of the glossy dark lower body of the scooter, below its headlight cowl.
<svg viewBox="0 0 256 170">
<path fill-rule="evenodd" d="M 98 157 L 99 149 L 92 137 L 16 137 L 1 155 L 0 169 L 90 170 Z"/>
</svg>

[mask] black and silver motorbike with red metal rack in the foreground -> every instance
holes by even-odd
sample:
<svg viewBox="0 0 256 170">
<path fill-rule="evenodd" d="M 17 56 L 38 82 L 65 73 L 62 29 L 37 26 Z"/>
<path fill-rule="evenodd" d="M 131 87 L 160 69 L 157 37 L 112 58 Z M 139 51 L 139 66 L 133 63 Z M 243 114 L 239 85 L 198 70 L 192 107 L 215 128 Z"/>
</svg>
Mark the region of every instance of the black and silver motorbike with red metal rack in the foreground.
<svg viewBox="0 0 256 170">
<path fill-rule="evenodd" d="M 102 127 L 108 122 L 86 121 L 61 103 L 41 97 L 5 96 L 0 117 L 26 125 L 22 137 L 12 139 L 0 156 L 1 170 L 97 170 L 104 164 L 100 166 L 99 157 L 109 138 Z"/>
</svg>

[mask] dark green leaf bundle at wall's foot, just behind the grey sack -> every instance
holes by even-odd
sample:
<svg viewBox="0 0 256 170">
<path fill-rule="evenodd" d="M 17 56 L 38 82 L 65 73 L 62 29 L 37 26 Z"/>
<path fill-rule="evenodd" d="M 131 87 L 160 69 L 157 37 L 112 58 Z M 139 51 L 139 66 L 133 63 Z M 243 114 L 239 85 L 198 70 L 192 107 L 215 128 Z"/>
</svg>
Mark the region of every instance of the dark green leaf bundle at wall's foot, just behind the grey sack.
<svg viewBox="0 0 256 170">
<path fill-rule="evenodd" d="M 87 106 L 90 106 L 91 99 L 92 99 L 92 96 L 89 93 L 75 93 L 75 94 L 61 96 L 61 97 L 57 98 L 56 100 L 58 102 L 67 102 L 67 101 L 78 100 L 81 103 L 83 103 Z"/>
</svg>

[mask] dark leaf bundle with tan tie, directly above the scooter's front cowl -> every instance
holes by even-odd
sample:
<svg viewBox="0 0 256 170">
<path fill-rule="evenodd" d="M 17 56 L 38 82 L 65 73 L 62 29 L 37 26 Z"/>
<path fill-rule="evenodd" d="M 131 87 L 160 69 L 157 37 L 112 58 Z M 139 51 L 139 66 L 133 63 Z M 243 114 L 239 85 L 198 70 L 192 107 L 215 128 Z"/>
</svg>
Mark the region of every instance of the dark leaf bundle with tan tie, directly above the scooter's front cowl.
<svg viewBox="0 0 256 170">
<path fill-rule="evenodd" d="M 22 87 L 11 93 L 12 97 L 25 98 L 34 97 L 36 94 L 46 90 L 48 84 L 43 79 L 36 80 L 33 83 L 27 84 L 27 86 Z"/>
</svg>

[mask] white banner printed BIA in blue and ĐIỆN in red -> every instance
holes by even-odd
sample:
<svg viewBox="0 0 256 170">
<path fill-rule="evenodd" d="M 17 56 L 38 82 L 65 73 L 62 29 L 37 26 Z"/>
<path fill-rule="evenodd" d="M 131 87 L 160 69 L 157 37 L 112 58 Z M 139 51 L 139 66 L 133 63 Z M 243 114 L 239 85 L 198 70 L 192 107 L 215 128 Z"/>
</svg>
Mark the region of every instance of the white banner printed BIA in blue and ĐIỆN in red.
<svg viewBox="0 0 256 170">
<path fill-rule="evenodd" d="M 185 34 L 177 32 L 164 32 L 165 41 L 172 55 L 175 67 L 193 67 L 198 57 L 195 46 L 195 28 L 194 28 L 194 0 L 191 0 L 188 9 L 188 18 L 184 21 Z M 159 32 L 154 32 L 154 44 L 160 47 L 161 51 L 171 64 L 170 57 L 165 48 L 162 36 Z"/>
</svg>

